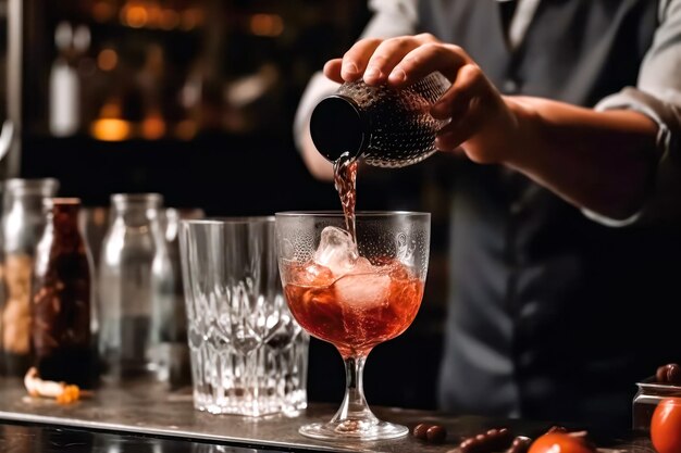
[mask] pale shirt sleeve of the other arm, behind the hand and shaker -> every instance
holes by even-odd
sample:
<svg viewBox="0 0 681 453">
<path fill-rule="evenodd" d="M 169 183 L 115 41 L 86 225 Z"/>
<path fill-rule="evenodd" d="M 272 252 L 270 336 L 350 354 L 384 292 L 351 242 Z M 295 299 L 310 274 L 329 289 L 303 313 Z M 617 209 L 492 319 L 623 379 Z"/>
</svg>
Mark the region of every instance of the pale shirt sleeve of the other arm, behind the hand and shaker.
<svg viewBox="0 0 681 453">
<path fill-rule="evenodd" d="M 371 0 L 369 10 L 372 16 L 360 38 L 412 35 L 417 29 L 417 0 Z M 294 117 L 294 140 L 298 149 L 301 148 L 302 137 L 307 133 L 312 109 L 337 88 L 338 84 L 324 77 L 321 71 L 310 78 Z"/>
</svg>

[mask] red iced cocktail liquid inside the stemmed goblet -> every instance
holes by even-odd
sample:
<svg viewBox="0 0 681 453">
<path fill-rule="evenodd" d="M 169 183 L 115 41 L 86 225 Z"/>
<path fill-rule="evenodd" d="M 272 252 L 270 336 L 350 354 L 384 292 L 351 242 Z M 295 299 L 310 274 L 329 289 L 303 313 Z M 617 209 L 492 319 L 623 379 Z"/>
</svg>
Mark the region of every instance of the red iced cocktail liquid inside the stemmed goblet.
<svg viewBox="0 0 681 453">
<path fill-rule="evenodd" d="M 310 335 L 333 343 L 343 358 L 367 355 L 404 332 L 423 297 L 423 281 L 398 261 L 339 278 L 313 262 L 294 264 L 286 273 L 290 282 L 284 292 L 294 317 Z"/>
</svg>

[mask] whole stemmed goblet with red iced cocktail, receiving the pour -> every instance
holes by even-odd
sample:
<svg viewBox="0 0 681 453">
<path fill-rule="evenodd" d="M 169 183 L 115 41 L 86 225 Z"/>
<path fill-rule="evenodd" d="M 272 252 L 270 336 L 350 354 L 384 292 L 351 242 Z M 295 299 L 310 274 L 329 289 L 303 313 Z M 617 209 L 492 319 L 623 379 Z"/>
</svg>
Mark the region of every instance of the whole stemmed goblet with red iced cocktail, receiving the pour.
<svg viewBox="0 0 681 453">
<path fill-rule="evenodd" d="M 313 337 L 336 347 L 346 392 L 327 423 L 305 425 L 315 439 L 377 440 L 408 428 L 369 408 L 362 372 L 369 352 L 413 322 L 428 270 L 431 217 L 417 212 L 358 212 L 356 240 L 342 212 L 275 214 L 278 266 L 292 314 Z"/>
</svg>

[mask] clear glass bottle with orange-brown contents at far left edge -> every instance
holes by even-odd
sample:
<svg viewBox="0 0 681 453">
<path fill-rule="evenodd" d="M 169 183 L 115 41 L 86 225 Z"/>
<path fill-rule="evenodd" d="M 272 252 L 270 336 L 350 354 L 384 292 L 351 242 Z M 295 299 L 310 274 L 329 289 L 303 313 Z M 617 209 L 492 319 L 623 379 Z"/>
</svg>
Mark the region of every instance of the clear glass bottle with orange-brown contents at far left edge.
<svg viewBox="0 0 681 453">
<path fill-rule="evenodd" d="M 4 373 L 24 376 L 30 358 L 30 279 L 36 246 L 47 225 L 46 201 L 59 188 L 53 178 L 9 179 L 2 209 L 2 355 Z"/>
</svg>

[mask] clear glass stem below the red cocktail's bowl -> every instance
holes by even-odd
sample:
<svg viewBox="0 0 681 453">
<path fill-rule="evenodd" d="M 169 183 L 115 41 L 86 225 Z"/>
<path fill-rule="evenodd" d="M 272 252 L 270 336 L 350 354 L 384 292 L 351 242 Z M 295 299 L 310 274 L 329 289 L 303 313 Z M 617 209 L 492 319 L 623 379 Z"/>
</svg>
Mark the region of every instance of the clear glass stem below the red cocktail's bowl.
<svg viewBox="0 0 681 453">
<path fill-rule="evenodd" d="M 379 423 L 364 399 L 362 376 L 366 362 L 366 356 L 345 358 L 345 398 L 331 419 L 338 431 L 364 430 Z"/>
</svg>

